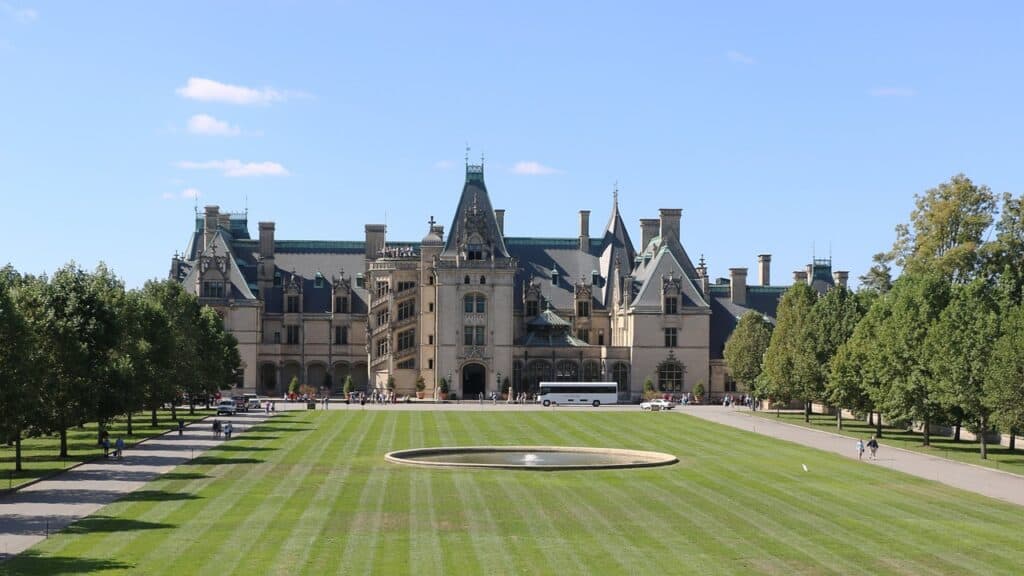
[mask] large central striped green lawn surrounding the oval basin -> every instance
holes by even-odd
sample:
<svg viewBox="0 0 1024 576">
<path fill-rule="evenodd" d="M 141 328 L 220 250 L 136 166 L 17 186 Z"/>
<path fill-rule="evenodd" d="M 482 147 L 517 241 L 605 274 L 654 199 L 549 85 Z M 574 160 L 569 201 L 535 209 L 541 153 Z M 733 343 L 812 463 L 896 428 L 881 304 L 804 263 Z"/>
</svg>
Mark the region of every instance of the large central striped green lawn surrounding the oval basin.
<svg viewBox="0 0 1024 576">
<path fill-rule="evenodd" d="M 480 444 L 681 461 L 528 472 L 383 458 Z M 316 411 L 276 416 L 0 572 L 1019 574 L 1022 511 L 682 414 Z"/>
</svg>

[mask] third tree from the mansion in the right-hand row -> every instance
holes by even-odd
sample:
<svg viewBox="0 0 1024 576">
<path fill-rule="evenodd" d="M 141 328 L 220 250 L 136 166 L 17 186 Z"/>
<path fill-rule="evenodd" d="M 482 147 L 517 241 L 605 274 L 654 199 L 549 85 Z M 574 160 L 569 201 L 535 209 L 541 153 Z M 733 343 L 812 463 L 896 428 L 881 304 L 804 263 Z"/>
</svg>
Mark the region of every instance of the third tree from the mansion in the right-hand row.
<svg viewBox="0 0 1024 576">
<path fill-rule="evenodd" d="M 839 348 L 853 335 L 857 323 L 863 317 L 860 299 L 851 290 L 836 286 L 818 298 L 811 307 L 805 324 L 803 346 L 809 347 L 811 357 L 803 372 L 810 383 L 814 398 L 825 400 L 831 362 Z M 836 410 L 837 425 L 843 427 L 843 408 Z"/>
</svg>

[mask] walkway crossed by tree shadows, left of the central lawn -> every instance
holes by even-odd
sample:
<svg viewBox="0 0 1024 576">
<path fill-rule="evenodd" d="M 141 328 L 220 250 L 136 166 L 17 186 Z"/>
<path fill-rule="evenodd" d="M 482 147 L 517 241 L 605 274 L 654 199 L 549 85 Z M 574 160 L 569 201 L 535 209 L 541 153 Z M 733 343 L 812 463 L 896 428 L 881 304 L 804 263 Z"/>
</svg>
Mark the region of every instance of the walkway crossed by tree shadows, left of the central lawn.
<svg viewBox="0 0 1024 576">
<path fill-rule="evenodd" d="M 220 417 L 223 422 L 231 422 L 234 434 L 266 418 L 263 412 Z M 213 438 L 210 421 L 201 420 L 185 426 L 180 437 L 172 431 L 126 449 L 120 460 L 87 462 L 0 497 L 0 562 L 221 442 Z"/>
</svg>

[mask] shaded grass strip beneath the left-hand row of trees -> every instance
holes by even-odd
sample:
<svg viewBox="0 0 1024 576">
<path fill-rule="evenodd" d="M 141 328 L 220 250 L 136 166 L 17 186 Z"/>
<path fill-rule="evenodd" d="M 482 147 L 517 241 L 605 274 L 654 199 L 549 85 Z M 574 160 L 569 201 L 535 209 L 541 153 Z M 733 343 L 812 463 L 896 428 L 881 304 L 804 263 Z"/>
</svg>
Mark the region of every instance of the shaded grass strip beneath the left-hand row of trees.
<svg viewBox="0 0 1024 576">
<path fill-rule="evenodd" d="M 189 415 L 188 408 L 178 410 L 178 417 L 185 422 L 193 422 L 213 414 L 213 410 L 202 410 L 197 408 L 196 414 Z M 127 429 L 126 418 L 118 418 L 108 425 L 111 433 L 111 450 L 114 449 L 114 441 L 118 437 L 125 439 L 125 447 L 131 447 L 135 443 L 164 434 L 176 428 L 177 424 L 171 422 L 171 411 L 160 410 L 157 412 L 159 425 L 150 426 L 150 412 L 139 412 L 132 416 L 133 436 L 125 434 Z M 89 422 L 85 426 L 73 427 L 68 430 L 68 457 L 59 458 L 60 438 L 57 436 L 45 436 L 28 438 L 22 441 L 22 471 L 14 470 L 14 446 L 0 444 L 0 490 L 5 490 L 12 486 L 20 486 L 44 476 L 51 475 L 57 470 L 93 460 L 103 455 L 103 449 L 96 445 L 96 435 L 98 434 L 96 422 Z M 2 574 L 2 571 L 0 571 Z"/>
</svg>

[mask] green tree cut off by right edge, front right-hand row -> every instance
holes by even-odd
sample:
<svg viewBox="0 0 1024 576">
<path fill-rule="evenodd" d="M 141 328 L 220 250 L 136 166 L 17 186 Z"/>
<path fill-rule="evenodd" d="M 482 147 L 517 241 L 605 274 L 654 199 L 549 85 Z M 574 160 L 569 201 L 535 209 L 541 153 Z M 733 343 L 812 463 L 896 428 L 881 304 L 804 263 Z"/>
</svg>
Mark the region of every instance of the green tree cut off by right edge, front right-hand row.
<svg viewBox="0 0 1024 576">
<path fill-rule="evenodd" d="M 992 422 L 1013 439 L 1024 428 L 1024 306 L 1004 313 L 999 332 L 986 371 L 984 401 Z"/>
</svg>

